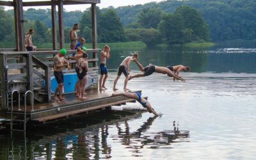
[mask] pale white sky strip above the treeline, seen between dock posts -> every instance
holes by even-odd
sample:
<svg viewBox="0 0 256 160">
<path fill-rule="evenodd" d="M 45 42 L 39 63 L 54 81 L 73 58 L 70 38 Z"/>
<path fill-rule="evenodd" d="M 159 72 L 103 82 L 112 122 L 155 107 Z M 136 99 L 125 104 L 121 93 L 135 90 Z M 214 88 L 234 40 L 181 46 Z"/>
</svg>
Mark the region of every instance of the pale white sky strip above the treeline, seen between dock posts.
<svg viewBox="0 0 256 160">
<path fill-rule="evenodd" d="M 4 0 L 4 1 L 12 1 L 12 0 Z M 23 0 L 23 1 L 37 1 L 37 0 Z M 102 8 L 108 8 L 109 6 L 113 6 L 114 8 L 118 6 L 128 6 L 128 5 L 136 5 L 136 4 L 145 4 L 145 3 L 150 3 L 150 2 L 160 2 L 164 0 L 100 0 L 100 3 L 97 4 L 100 9 Z M 66 11 L 74 11 L 74 10 L 81 10 L 84 11 L 86 8 L 89 8 L 90 4 L 83 4 L 82 7 L 81 5 L 65 5 L 64 9 Z M 24 10 L 27 10 L 28 8 L 32 7 L 24 7 Z M 40 7 L 33 7 L 35 9 L 45 9 L 45 8 L 50 8 L 50 6 L 40 6 Z M 12 7 L 5 7 L 6 10 L 13 9 Z"/>
</svg>

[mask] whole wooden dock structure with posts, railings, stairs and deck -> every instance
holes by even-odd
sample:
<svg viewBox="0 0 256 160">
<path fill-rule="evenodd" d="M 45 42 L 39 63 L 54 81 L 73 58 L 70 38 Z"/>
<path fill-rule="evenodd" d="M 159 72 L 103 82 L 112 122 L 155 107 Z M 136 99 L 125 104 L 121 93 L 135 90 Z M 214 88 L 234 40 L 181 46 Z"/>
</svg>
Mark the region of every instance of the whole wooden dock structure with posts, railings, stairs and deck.
<svg viewBox="0 0 256 160">
<path fill-rule="evenodd" d="M 45 122 L 79 113 L 86 113 L 95 109 L 110 109 L 113 105 L 134 102 L 133 99 L 117 96 L 111 97 L 112 90 L 100 92 L 98 90 L 99 67 L 97 66 L 97 19 L 96 4 L 100 0 L 56 0 L 56 1 L 0 1 L 3 6 L 13 6 L 15 17 L 15 49 L 0 49 L 0 119 L 10 117 L 10 113 L 17 118 L 16 122 L 24 122 L 26 130 L 27 120 Z M 88 53 L 88 75 L 95 80 L 86 93 L 88 99 L 77 99 L 74 94 L 65 95 L 65 101 L 52 101 L 51 76 L 53 76 L 53 56 L 58 54 L 64 46 L 63 27 L 63 5 L 68 4 L 90 4 L 92 10 L 92 49 Z M 26 51 L 24 43 L 24 17 L 23 6 L 51 6 L 52 12 L 52 49 L 38 49 L 37 51 Z M 56 6 L 58 6 L 58 30 Z M 58 47 L 57 36 L 60 45 Z M 71 56 L 75 50 L 68 50 L 67 56 Z M 69 60 L 72 69 L 63 70 L 63 73 L 75 72 L 76 61 Z M 137 91 L 141 92 L 141 91 Z M 28 96 L 27 96 L 27 93 Z M 30 94 L 31 93 L 31 94 Z M 24 105 L 27 104 L 34 105 Z M 13 103 L 12 103 L 13 102 Z M 20 109 L 19 109 L 20 102 Z M 35 102 L 35 103 L 34 103 Z M 13 105 L 12 105 L 13 104 Z M 14 106 L 14 110 L 11 110 Z M 24 106 L 27 106 L 24 109 Z M 25 116 L 26 115 L 26 116 Z M 19 116 L 23 116 L 24 119 Z M 12 129 L 11 121 L 11 129 Z"/>
</svg>

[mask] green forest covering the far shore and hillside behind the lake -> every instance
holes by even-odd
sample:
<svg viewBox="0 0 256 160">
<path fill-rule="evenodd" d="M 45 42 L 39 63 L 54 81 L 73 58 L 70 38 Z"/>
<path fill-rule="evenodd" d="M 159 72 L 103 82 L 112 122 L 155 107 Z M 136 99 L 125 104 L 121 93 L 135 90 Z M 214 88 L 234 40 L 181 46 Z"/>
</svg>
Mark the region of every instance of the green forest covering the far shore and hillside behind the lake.
<svg viewBox="0 0 256 160">
<path fill-rule="evenodd" d="M 0 6 L 0 42 L 14 43 L 13 10 Z M 51 43 L 51 10 L 24 11 L 24 33 L 33 28 L 34 44 Z M 65 42 L 74 23 L 92 42 L 90 9 L 64 12 Z M 252 40 L 256 36 L 256 1 L 168 0 L 118 8 L 97 8 L 98 42 L 142 41 L 147 45 Z"/>
</svg>

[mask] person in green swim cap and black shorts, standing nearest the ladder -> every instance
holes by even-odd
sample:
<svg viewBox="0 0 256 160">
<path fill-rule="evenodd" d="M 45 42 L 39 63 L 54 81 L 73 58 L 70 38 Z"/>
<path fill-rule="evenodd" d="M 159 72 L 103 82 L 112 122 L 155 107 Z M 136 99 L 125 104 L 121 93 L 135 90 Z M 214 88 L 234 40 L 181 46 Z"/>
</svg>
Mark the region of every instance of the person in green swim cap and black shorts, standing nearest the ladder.
<svg viewBox="0 0 256 160">
<path fill-rule="evenodd" d="M 67 60 L 65 60 L 65 55 L 67 54 L 66 49 L 61 49 L 58 54 L 56 54 L 53 58 L 53 70 L 54 70 L 54 77 L 56 78 L 56 81 L 58 83 L 58 86 L 56 87 L 55 93 L 54 93 L 54 99 L 56 100 L 65 100 L 62 97 L 62 88 L 63 88 L 63 82 L 64 82 L 64 76 L 63 76 L 63 67 L 67 67 L 70 69 L 70 65 Z M 59 93 L 59 97 L 58 97 Z"/>
</svg>

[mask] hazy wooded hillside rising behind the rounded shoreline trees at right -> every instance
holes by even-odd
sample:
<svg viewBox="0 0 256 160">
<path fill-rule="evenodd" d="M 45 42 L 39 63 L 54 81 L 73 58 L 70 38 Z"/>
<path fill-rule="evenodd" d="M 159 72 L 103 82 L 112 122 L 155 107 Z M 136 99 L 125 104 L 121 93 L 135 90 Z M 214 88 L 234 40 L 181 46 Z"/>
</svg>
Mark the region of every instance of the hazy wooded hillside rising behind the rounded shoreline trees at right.
<svg viewBox="0 0 256 160">
<path fill-rule="evenodd" d="M 116 8 L 116 12 L 121 22 L 127 26 L 136 22 L 135 15 L 145 8 L 159 7 L 166 13 L 174 13 L 177 8 L 184 5 L 200 10 L 208 24 L 211 40 L 214 42 L 234 39 L 250 40 L 256 37 L 255 0 L 166 0 L 161 3 L 122 6 Z M 203 29 L 207 28 L 207 26 L 204 27 Z"/>
</svg>

